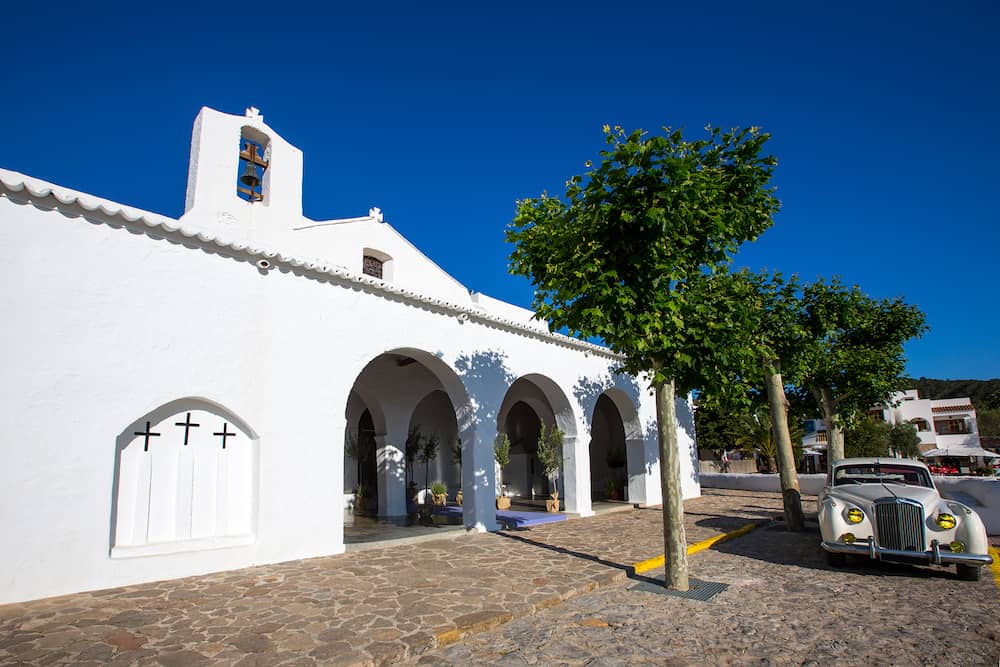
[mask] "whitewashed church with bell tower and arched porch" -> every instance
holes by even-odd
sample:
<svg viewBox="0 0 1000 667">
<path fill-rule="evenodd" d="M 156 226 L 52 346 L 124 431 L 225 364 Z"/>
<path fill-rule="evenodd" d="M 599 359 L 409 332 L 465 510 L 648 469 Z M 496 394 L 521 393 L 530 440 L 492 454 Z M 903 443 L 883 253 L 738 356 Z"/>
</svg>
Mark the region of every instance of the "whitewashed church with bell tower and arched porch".
<svg viewBox="0 0 1000 667">
<path fill-rule="evenodd" d="M 179 219 L 0 169 L 0 603 L 341 553 L 359 484 L 407 513 L 414 428 L 469 530 L 497 529 L 498 433 L 508 492 L 548 491 L 541 424 L 565 433 L 567 513 L 593 514 L 615 448 L 628 501 L 660 502 L 642 378 L 470 292 L 377 208 L 305 218 L 302 164 L 255 109 L 205 108 Z"/>
</svg>

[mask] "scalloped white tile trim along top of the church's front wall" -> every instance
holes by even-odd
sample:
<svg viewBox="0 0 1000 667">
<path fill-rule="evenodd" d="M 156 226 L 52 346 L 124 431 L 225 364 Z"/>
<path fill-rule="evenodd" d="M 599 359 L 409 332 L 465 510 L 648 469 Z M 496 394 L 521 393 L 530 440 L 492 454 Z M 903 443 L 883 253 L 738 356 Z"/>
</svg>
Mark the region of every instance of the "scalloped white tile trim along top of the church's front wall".
<svg viewBox="0 0 1000 667">
<path fill-rule="evenodd" d="M 15 171 L 0 169 L 0 196 L 10 198 L 10 195 L 14 195 L 17 199 L 26 199 L 28 201 L 41 201 L 51 198 L 63 206 L 79 207 L 87 213 L 98 213 L 111 219 L 117 218 L 130 225 L 143 225 L 150 230 L 156 230 L 163 234 L 180 236 L 184 239 L 196 241 L 206 246 L 212 245 L 216 248 L 223 248 L 235 253 L 248 255 L 251 258 L 266 258 L 272 264 L 277 266 L 285 266 L 290 269 L 309 271 L 326 278 L 329 282 L 350 284 L 360 283 L 374 292 L 393 295 L 396 298 L 412 305 L 431 306 L 438 310 L 445 311 L 449 315 L 459 317 L 464 316 L 465 318 L 482 324 L 498 326 L 514 333 L 530 336 L 532 338 L 538 338 L 556 345 L 581 350 L 583 352 L 605 357 L 609 360 L 622 361 L 622 357 L 620 355 L 617 355 L 611 350 L 601 347 L 600 345 L 588 343 L 577 338 L 571 338 L 570 336 L 564 336 L 562 334 L 551 333 L 526 326 L 520 322 L 497 317 L 478 308 L 464 306 L 445 301 L 443 299 L 427 296 L 419 292 L 415 292 L 414 290 L 402 288 L 398 285 L 393 285 L 371 276 L 349 271 L 342 266 L 329 262 L 296 257 L 294 255 L 284 254 L 274 248 L 250 245 L 242 241 L 230 240 L 205 232 L 193 232 L 185 229 L 183 225 L 181 225 L 180 221 L 173 218 L 132 208 L 130 206 L 123 206 L 121 204 L 77 192 L 75 190 L 61 188 L 57 185 L 30 178 Z M 18 197 L 18 195 L 20 195 L 20 197 Z"/>
</svg>

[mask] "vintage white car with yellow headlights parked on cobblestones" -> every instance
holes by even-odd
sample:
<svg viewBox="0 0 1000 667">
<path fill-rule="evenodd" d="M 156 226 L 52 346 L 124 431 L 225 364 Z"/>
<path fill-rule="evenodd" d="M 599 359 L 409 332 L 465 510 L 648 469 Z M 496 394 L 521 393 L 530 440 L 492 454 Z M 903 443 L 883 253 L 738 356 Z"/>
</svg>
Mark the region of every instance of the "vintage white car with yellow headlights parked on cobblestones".
<svg viewBox="0 0 1000 667">
<path fill-rule="evenodd" d="M 986 527 L 974 511 L 942 498 L 930 471 L 909 459 L 838 461 L 819 495 L 827 562 L 848 554 L 903 563 L 955 565 L 976 581 L 989 565 Z"/>
</svg>

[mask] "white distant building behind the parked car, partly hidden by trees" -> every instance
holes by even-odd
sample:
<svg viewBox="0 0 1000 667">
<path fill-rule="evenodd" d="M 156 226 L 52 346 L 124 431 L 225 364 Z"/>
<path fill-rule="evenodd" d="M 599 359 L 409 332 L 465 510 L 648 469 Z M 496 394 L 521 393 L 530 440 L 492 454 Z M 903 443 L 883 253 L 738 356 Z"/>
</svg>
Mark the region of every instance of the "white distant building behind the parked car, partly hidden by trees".
<svg viewBox="0 0 1000 667">
<path fill-rule="evenodd" d="M 868 416 L 889 424 L 913 424 L 920 436 L 921 452 L 981 447 L 976 410 L 969 398 L 920 398 L 916 389 L 908 389 L 894 394 L 888 404 L 869 410 Z M 824 421 L 807 419 L 803 426 L 803 448 L 806 451 L 825 451 L 827 438 Z"/>
</svg>

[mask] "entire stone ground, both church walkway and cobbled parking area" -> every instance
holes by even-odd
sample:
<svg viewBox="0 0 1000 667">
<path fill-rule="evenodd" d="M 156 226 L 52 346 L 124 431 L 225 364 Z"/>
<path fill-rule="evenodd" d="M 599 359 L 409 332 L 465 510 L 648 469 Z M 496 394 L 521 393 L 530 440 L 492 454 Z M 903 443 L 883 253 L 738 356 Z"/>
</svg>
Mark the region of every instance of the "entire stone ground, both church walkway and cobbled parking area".
<svg viewBox="0 0 1000 667">
<path fill-rule="evenodd" d="M 689 542 L 768 520 L 781 507 L 773 493 L 704 493 L 685 503 Z M 870 646 L 882 647 L 873 658 L 894 664 L 927 656 L 971 664 L 970 646 L 976 659 L 996 660 L 1000 604 L 989 577 L 970 584 L 930 568 L 832 571 L 815 534 L 759 529 L 692 556 L 694 576 L 731 585 L 709 603 L 630 591 L 627 565 L 662 552 L 661 520 L 656 509 L 615 512 L 2 606 L 0 664 L 701 664 L 750 656 L 798 656 L 800 664 L 806 656 L 864 662 Z M 897 644 L 908 651 L 899 660 Z"/>
</svg>

